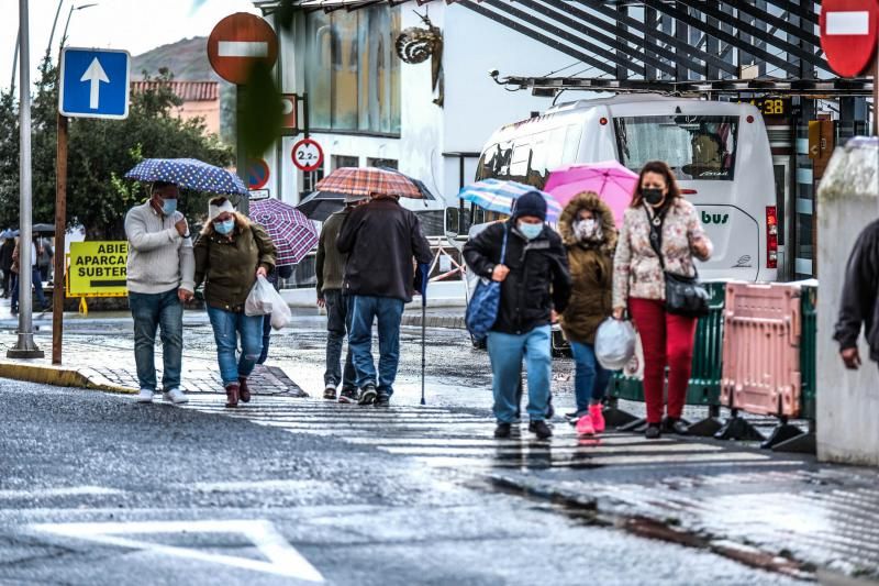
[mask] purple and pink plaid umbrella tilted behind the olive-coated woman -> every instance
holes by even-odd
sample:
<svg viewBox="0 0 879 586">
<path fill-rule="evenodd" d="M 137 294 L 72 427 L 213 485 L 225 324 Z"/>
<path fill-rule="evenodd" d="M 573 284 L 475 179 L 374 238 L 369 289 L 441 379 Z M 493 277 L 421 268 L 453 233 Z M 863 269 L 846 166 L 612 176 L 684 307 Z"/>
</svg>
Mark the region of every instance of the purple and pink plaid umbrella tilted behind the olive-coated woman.
<svg viewBox="0 0 879 586">
<path fill-rule="evenodd" d="M 305 215 L 277 199 L 251 201 L 251 219 L 266 229 L 277 248 L 277 266 L 294 265 L 318 244 L 318 229 Z"/>
</svg>

